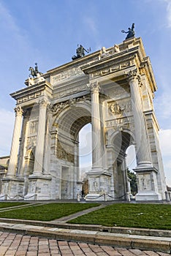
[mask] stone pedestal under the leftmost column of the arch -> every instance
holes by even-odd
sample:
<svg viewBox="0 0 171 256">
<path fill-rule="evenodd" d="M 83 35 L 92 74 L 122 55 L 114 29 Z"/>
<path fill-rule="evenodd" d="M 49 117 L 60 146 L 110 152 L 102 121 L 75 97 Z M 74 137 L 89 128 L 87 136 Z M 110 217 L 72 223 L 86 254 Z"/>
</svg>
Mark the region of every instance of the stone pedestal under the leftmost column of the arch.
<svg viewBox="0 0 171 256">
<path fill-rule="evenodd" d="M 23 200 L 24 178 L 3 178 L 1 200 Z"/>
</svg>

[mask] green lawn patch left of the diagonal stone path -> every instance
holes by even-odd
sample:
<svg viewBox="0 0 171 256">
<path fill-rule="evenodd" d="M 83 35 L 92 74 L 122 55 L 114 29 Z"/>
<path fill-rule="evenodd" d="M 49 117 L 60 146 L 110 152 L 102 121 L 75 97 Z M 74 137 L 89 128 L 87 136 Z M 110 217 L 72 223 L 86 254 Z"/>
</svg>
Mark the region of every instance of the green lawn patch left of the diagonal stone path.
<svg viewBox="0 0 171 256">
<path fill-rule="evenodd" d="M 0 212 L 0 218 L 50 221 L 99 205 L 99 203 L 47 203 Z"/>
</svg>

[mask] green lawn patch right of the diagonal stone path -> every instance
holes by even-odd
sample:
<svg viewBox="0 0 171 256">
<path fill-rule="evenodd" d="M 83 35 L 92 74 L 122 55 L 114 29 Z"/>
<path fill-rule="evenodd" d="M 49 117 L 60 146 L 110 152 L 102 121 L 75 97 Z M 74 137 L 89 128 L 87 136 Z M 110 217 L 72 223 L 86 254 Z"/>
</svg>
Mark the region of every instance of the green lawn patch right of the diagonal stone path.
<svg viewBox="0 0 171 256">
<path fill-rule="evenodd" d="M 171 230 L 171 205 L 114 203 L 69 223 Z"/>
</svg>

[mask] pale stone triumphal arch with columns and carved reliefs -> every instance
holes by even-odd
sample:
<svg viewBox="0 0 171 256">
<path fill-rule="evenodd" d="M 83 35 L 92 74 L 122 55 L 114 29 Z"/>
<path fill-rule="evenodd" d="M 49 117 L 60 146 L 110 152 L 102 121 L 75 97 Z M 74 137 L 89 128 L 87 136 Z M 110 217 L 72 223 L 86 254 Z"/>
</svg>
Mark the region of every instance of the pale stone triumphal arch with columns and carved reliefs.
<svg viewBox="0 0 171 256">
<path fill-rule="evenodd" d="M 80 45 L 80 48 L 83 46 Z M 153 110 L 156 82 L 142 39 L 131 37 L 26 80 L 15 91 L 15 127 L 1 198 L 76 199 L 79 132 L 92 127 L 86 200 L 126 198 L 126 149 L 135 146 L 136 200 L 165 200 Z"/>
</svg>

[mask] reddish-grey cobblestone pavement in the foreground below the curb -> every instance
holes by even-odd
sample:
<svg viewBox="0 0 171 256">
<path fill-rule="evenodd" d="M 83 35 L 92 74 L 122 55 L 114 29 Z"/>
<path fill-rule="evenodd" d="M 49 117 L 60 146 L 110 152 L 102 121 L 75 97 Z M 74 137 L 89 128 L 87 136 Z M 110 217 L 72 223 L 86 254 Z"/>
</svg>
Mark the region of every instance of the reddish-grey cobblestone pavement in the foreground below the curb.
<svg viewBox="0 0 171 256">
<path fill-rule="evenodd" d="M 0 256 L 168 256 L 167 253 L 123 249 L 112 246 L 56 241 L 14 233 L 0 232 Z"/>
</svg>

